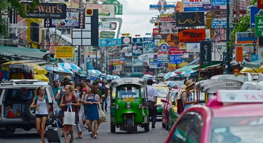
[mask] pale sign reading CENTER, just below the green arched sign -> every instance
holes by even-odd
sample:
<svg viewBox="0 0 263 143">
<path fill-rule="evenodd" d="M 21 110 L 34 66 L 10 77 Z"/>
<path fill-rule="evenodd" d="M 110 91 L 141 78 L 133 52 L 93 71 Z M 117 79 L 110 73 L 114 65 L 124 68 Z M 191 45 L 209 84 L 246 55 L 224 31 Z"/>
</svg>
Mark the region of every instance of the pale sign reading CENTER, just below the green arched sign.
<svg viewBox="0 0 263 143">
<path fill-rule="evenodd" d="M 115 18 L 114 4 L 86 4 L 86 8 L 98 9 L 98 18 Z"/>
</svg>

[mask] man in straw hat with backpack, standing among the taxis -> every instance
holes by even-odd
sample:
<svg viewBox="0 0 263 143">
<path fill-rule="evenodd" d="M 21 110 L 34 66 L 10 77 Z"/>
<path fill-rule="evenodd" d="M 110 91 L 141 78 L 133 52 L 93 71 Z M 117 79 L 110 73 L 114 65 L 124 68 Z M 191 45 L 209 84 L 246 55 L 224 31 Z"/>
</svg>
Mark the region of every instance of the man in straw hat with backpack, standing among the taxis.
<svg viewBox="0 0 263 143">
<path fill-rule="evenodd" d="M 190 93 L 193 90 L 194 82 L 192 80 L 187 80 L 185 82 L 186 88 L 181 94 L 181 99 L 183 101 L 184 111 L 193 106 L 193 104 L 198 104 L 197 101 L 193 101 L 193 96 Z"/>
</svg>

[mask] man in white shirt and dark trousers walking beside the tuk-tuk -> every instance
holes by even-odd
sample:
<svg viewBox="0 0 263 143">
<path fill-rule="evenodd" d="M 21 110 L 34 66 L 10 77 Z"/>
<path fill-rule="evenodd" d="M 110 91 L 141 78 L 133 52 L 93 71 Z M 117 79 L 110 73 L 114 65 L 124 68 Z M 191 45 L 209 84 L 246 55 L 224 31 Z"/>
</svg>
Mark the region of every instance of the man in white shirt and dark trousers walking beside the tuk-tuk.
<svg viewBox="0 0 263 143">
<path fill-rule="evenodd" d="M 157 118 L 157 90 L 152 86 L 153 80 L 147 80 L 147 96 L 148 96 L 148 111 L 149 117 L 152 121 L 152 128 L 155 128 L 155 122 Z"/>
</svg>

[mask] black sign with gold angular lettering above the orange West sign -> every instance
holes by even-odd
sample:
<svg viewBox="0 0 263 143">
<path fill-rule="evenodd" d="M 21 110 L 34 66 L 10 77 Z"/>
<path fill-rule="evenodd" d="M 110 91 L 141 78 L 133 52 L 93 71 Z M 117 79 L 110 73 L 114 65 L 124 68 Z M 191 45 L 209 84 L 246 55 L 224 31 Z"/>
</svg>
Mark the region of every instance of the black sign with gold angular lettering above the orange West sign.
<svg viewBox="0 0 263 143">
<path fill-rule="evenodd" d="M 205 13 L 176 13 L 177 27 L 205 26 Z"/>
</svg>

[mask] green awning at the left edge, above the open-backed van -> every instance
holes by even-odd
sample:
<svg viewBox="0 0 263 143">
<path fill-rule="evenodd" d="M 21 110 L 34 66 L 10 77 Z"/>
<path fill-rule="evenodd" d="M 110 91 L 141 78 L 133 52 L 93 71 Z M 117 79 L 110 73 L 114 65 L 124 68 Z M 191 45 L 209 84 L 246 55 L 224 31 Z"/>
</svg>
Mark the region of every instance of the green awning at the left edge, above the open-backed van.
<svg viewBox="0 0 263 143">
<path fill-rule="evenodd" d="M 43 56 L 48 54 L 50 51 L 46 51 L 44 49 L 0 46 L 0 52 L 11 54 L 11 55 L 25 56 L 25 57 L 43 58 Z"/>
</svg>

